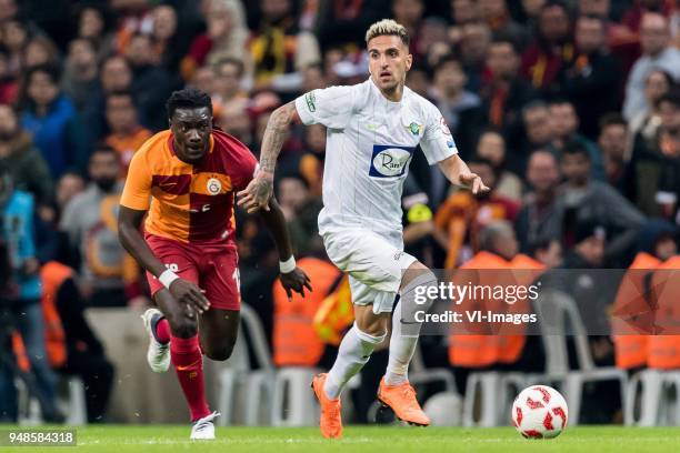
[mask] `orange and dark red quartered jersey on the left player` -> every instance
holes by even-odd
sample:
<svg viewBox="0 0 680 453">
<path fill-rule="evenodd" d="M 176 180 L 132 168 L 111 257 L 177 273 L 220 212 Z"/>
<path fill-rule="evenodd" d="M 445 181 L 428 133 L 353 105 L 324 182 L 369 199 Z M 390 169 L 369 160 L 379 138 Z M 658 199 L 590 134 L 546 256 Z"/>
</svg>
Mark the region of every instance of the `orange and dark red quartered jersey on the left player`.
<svg viewBox="0 0 680 453">
<path fill-rule="evenodd" d="M 258 161 L 233 137 L 213 130 L 196 164 L 181 161 L 169 130 L 142 144 L 128 171 L 120 204 L 149 210 L 146 231 L 181 242 L 233 241 L 234 193 L 252 180 Z"/>
</svg>

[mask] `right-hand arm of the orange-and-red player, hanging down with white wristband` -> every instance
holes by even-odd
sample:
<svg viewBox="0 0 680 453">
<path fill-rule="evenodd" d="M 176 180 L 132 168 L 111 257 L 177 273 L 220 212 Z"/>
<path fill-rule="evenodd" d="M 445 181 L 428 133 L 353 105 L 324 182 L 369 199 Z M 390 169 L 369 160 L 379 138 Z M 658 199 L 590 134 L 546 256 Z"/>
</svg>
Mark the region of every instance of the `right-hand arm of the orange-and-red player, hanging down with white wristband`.
<svg viewBox="0 0 680 453">
<path fill-rule="evenodd" d="M 283 217 L 283 212 L 277 199 L 273 197 L 269 199 L 269 210 L 260 211 L 260 217 L 262 217 L 262 220 L 277 243 L 281 284 L 286 290 L 286 294 L 288 294 L 288 299 L 292 298 L 293 291 L 304 296 L 304 289 L 307 288 L 309 291 L 312 291 L 312 288 L 309 276 L 307 276 L 303 270 L 296 265 L 290 236 L 286 228 L 286 218 Z"/>
</svg>

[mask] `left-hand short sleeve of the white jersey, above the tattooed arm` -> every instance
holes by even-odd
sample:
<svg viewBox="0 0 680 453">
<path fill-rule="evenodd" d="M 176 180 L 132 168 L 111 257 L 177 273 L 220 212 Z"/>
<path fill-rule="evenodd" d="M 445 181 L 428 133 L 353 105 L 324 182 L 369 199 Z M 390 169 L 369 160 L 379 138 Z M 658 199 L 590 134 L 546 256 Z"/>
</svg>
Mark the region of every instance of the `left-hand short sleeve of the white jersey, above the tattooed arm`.
<svg viewBox="0 0 680 453">
<path fill-rule="evenodd" d="M 329 87 L 309 91 L 296 99 L 296 109 L 304 124 L 323 124 L 343 129 L 353 110 L 352 87 Z"/>
</svg>

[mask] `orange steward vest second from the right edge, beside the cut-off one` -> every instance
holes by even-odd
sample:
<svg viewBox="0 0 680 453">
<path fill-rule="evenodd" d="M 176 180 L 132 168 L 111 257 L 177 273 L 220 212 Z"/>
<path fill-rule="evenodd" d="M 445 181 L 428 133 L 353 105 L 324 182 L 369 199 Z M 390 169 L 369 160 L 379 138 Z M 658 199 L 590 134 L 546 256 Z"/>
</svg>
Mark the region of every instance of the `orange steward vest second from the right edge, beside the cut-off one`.
<svg viewBox="0 0 680 453">
<path fill-rule="evenodd" d="M 632 322 L 644 328 L 644 316 L 651 315 L 650 294 L 646 291 L 644 279 L 647 273 L 652 272 L 661 261 L 649 253 L 640 252 L 628 268 L 629 271 L 623 275 L 617 299 L 614 300 L 613 311 L 623 318 L 639 314 L 638 320 Z M 626 319 L 614 316 L 612 321 L 614 335 L 614 356 L 617 366 L 630 370 L 647 365 L 647 352 L 649 345 L 648 335 L 636 335 L 628 325 Z M 624 333 L 624 334 L 616 334 Z"/>
</svg>

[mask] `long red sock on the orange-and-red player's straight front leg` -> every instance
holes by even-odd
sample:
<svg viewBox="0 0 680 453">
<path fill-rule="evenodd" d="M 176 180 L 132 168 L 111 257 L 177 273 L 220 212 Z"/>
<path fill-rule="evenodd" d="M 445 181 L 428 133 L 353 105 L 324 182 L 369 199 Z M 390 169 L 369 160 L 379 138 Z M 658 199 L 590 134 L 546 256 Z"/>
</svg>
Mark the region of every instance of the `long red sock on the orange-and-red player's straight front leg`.
<svg viewBox="0 0 680 453">
<path fill-rule="evenodd" d="M 170 359 L 189 404 L 191 421 L 194 422 L 210 414 L 206 401 L 203 356 L 199 349 L 198 334 L 190 339 L 172 336 L 170 341 Z"/>
</svg>

